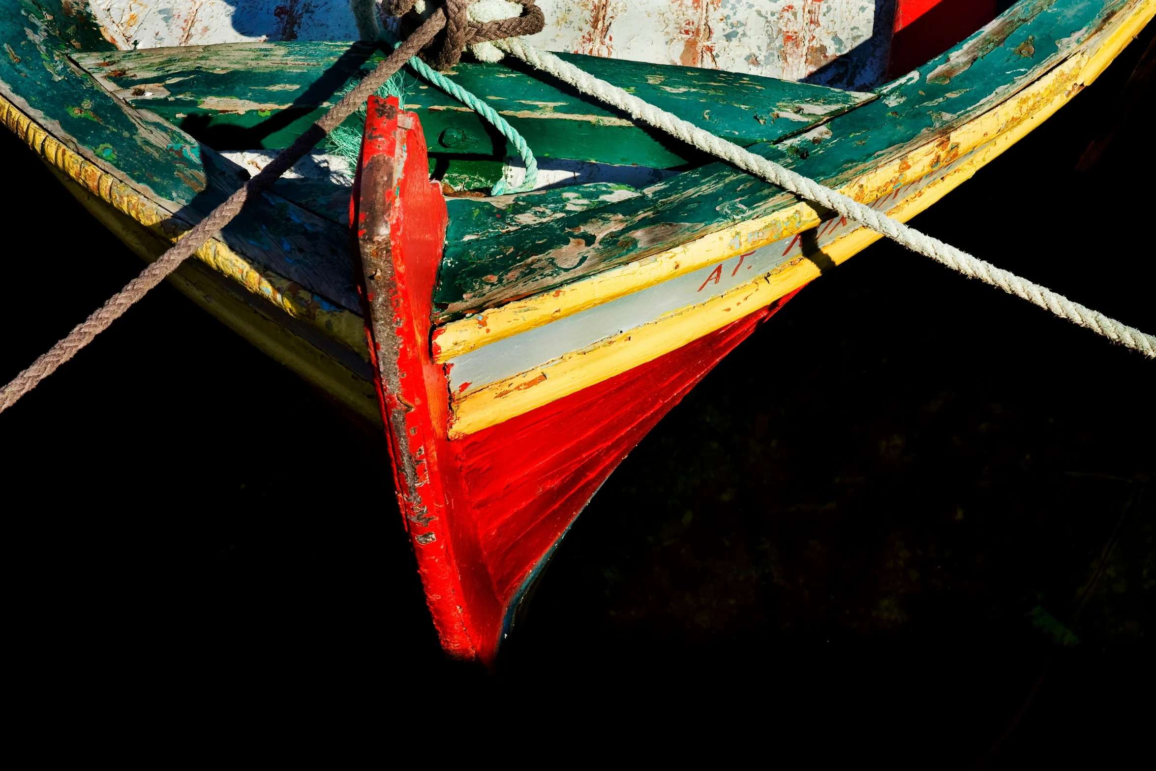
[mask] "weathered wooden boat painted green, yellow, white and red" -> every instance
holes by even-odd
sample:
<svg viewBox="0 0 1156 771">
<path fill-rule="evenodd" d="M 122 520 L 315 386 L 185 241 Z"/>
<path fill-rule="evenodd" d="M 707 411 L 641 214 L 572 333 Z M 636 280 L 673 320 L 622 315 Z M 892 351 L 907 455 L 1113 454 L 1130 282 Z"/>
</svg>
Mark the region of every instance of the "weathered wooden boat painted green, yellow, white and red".
<svg viewBox="0 0 1156 771">
<path fill-rule="evenodd" d="M 118 2 L 20 0 L 0 10 L 0 110 L 144 259 L 381 59 L 373 44 L 303 39 L 304 18 L 290 30 L 296 39 L 282 28 L 274 40 L 236 14 L 220 17 L 218 34 L 266 39 L 192 45 L 200 28 L 186 25 L 188 38 L 176 40 L 185 45 L 148 47 L 147 20 L 121 35 L 94 10 L 111 14 Z M 832 9 L 851 3 L 763 5 L 776 9 L 780 67 L 794 61 L 788 43 L 799 39 L 784 31 L 786 17 L 818 20 L 807 27 L 806 67 L 779 71 L 791 79 L 751 72 L 773 57 L 740 55 L 757 35 L 719 34 L 709 14 L 726 21 L 729 12 L 706 0 L 603 13 L 599 39 L 613 49 L 570 51 L 586 39 L 577 30 L 591 29 L 593 10 L 578 22 L 555 12 L 547 31 L 568 40 L 564 58 L 583 69 L 907 220 L 1072 99 L 1156 13 L 1156 0 L 1021 0 L 985 22 L 994 5 L 904 0 L 885 27 L 885 55 L 873 59 L 877 77 L 902 72 L 845 90 L 830 83 L 858 49 L 824 60 L 818 47 L 821 28 L 835 29 L 823 27 Z M 313 6 L 334 18 L 343 7 Z M 669 37 L 638 15 L 659 6 L 698 9 L 705 28 Z M 128 29 L 117 18 L 116 29 Z M 944 32 L 955 42 L 906 69 L 924 54 L 903 42 L 926 44 L 925 18 L 936 32 L 957 22 Z M 640 32 L 623 31 L 631 24 L 654 35 L 635 42 Z M 151 39 L 171 43 L 170 32 Z M 706 66 L 683 64 L 679 39 Z M 654 60 L 629 60 L 631 51 Z M 747 69 L 720 64 L 735 58 Z M 517 62 L 462 61 L 451 77 L 526 138 L 543 169 L 538 190 L 489 195 L 498 179 L 521 179 L 511 148 L 474 112 L 412 79 L 400 98 L 373 98 L 349 124 L 363 135 L 357 164 L 333 154 L 303 161 L 172 282 L 384 424 L 443 645 L 490 662 L 535 577 L 627 453 L 796 291 L 879 235 Z"/>
</svg>

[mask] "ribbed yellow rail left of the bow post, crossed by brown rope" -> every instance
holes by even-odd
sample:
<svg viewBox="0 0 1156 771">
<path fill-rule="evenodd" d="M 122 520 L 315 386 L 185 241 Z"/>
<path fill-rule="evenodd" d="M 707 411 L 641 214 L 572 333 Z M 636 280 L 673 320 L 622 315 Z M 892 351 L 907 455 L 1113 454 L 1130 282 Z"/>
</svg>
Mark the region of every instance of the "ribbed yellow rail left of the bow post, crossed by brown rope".
<svg viewBox="0 0 1156 771">
<path fill-rule="evenodd" d="M 166 242 L 175 243 L 191 228 L 187 223 L 176 220 L 155 201 L 141 195 L 116 176 L 58 141 L 2 96 L 0 96 L 0 123 L 87 192 L 110 203 Z M 217 273 L 264 297 L 286 313 L 323 329 L 325 334 L 369 361 L 361 316 L 341 307 L 325 310 L 319 299 L 331 306 L 334 303 L 320 295 L 314 296 L 284 276 L 259 269 L 215 238 L 206 242 L 194 254 Z"/>
</svg>

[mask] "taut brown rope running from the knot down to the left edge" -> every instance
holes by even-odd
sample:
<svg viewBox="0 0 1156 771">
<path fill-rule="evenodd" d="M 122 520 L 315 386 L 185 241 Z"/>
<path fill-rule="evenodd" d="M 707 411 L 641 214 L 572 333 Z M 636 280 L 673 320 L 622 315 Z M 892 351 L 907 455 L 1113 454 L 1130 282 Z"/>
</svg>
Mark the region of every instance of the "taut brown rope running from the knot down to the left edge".
<svg viewBox="0 0 1156 771">
<path fill-rule="evenodd" d="M 413 5 L 413 2 L 410 2 Z M 372 96 L 385 81 L 401 66 L 424 49 L 433 37 L 446 25 L 445 14 L 440 8 L 433 12 L 425 22 L 399 45 L 392 54 L 357 84 L 341 102 L 326 112 L 309 129 L 297 138 L 288 149 L 282 150 L 276 158 L 265 166 L 260 173 L 245 183 L 245 186 L 230 195 L 224 203 L 200 221 L 195 228 L 186 232 L 177 244 L 162 254 L 155 262 L 144 268 L 119 292 L 109 298 L 95 313 L 77 325 L 68 336 L 52 347 L 29 366 L 17 375 L 0 391 L 0 413 L 8 409 L 25 393 L 39 385 L 40 380 L 52 375 L 58 366 L 76 355 L 90 343 L 96 335 L 109 328 L 113 321 L 128 307 L 143 297 L 149 289 L 156 287 L 181 262 L 188 259 L 205 242 L 237 216 L 250 198 L 255 198 L 269 188 L 277 178 L 288 171 L 292 164 L 305 156 L 313 146 L 321 141 L 342 120 L 353 114 L 358 106 Z"/>
</svg>

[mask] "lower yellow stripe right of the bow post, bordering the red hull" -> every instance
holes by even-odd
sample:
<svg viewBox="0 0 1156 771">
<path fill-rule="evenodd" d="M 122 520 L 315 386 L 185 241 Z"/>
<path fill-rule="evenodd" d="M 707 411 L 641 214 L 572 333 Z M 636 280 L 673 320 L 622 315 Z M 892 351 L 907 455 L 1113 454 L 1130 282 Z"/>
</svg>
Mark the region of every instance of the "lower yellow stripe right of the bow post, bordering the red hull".
<svg viewBox="0 0 1156 771">
<path fill-rule="evenodd" d="M 1156 9 L 1156 0 L 1138 2 L 1134 9 L 1135 13 L 1128 16 L 1125 23 L 1106 30 L 1099 42 L 1117 46 L 1121 36 L 1125 42 L 1131 39 L 1131 36 L 1135 35 L 1151 18 L 1153 12 Z M 1117 53 L 1121 49 L 1122 46 L 1114 47 Z M 1075 53 L 1013 99 L 998 105 L 975 121 L 963 126 L 959 132 L 970 132 L 981 136 L 991 135 L 991 139 L 959 168 L 903 199 L 897 206 L 889 209 L 888 214 L 899 221 L 910 220 L 970 179 L 976 171 L 1028 135 L 1081 90 L 1085 66 L 1097 67 L 1097 69 L 1091 71 L 1094 75 L 1098 75 L 1103 71 L 1102 60 L 1096 55 L 1099 51 L 1099 47 L 1091 50 L 1089 46 L 1089 49 Z M 995 132 L 984 132 L 985 126 L 1000 126 L 1002 128 Z M 954 134 L 953 141 L 955 141 Z M 910 179 L 916 178 L 918 177 Z M 882 236 L 860 228 L 828 244 L 822 252 L 831 262 L 839 265 L 879 238 Z M 743 316 L 770 305 L 818 275 L 820 270 L 815 261 L 808 258 L 798 258 L 773 273 L 736 287 L 722 296 L 674 311 L 655 321 L 608 338 L 588 348 L 572 351 L 528 372 L 480 388 L 467 394 L 453 406 L 450 436 L 460 438 L 497 425 L 511 417 L 653 361 Z"/>
</svg>

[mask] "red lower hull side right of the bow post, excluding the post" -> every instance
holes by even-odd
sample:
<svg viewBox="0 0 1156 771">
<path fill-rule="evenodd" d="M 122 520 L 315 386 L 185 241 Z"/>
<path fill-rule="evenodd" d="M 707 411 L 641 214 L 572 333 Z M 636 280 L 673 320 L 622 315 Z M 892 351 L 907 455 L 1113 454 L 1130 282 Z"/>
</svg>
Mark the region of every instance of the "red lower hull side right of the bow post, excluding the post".
<svg viewBox="0 0 1156 771">
<path fill-rule="evenodd" d="M 450 443 L 503 635 L 535 570 L 627 454 L 787 298 L 679 350 Z"/>
</svg>

